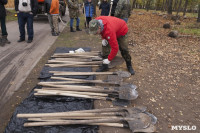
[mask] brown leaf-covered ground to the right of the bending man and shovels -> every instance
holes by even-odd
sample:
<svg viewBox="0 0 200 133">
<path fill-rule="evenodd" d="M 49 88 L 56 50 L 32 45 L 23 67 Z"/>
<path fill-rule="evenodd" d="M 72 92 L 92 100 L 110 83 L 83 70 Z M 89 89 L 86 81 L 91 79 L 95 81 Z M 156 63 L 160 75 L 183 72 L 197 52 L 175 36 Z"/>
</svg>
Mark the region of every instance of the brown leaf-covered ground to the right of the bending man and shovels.
<svg viewBox="0 0 200 133">
<path fill-rule="evenodd" d="M 200 38 L 170 38 L 171 29 L 162 28 L 168 22 L 179 29 L 195 19 L 174 25 L 161 15 L 143 13 L 134 12 L 128 22 L 136 75 L 127 81 L 138 85 L 140 94 L 133 105 L 145 105 L 157 116 L 158 132 L 171 133 L 172 125 L 196 125 L 199 130 Z"/>
</svg>

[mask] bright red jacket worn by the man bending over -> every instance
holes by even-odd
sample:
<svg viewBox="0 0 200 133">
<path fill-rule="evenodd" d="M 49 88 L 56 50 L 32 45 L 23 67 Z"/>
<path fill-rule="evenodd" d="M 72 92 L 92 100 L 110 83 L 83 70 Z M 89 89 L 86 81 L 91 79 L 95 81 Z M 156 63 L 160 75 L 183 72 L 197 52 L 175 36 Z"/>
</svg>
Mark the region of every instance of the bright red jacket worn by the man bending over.
<svg viewBox="0 0 200 133">
<path fill-rule="evenodd" d="M 103 21 L 104 29 L 101 32 L 101 36 L 102 39 L 106 39 L 109 42 L 111 52 L 108 55 L 108 60 L 111 61 L 119 50 L 117 38 L 126 35 L 128 27 L 124 20 L 112 16 L 100 16 L 95 19 Z"/>
</svg>

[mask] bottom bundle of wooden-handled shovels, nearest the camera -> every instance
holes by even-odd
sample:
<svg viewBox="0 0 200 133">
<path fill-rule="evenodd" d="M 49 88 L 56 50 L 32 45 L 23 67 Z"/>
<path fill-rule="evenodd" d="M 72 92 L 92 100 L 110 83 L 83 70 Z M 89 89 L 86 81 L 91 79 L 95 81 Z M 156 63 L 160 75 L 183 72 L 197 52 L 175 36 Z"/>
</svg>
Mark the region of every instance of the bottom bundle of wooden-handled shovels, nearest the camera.
<svg viewBox="0 0 200 133">
<path fill-rule="evenodd" d="M 17 114 L 27 118 L 25 127 L 55 125 L 101 125 L 129 128 L 132 132 L 155 132 L 157 118 L 146 107 L 104 108 L 71 112 Z"/>
</svg>

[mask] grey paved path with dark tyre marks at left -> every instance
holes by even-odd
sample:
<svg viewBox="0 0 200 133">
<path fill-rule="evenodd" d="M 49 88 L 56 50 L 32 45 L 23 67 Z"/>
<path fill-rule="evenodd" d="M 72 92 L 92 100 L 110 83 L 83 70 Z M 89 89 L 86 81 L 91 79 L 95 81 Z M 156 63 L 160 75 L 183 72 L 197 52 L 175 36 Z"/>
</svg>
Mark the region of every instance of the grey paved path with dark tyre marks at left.
<svg viewBox="0 0 200 133">
<path fill-rule="evenodd" d="M 64 20 L 67 20 L 67 17 L 68 15 Z M 60 31 L 64 27 L 60 23 Z M 40 58 L 57 39 L 51 35 L 47 17 L 35 19 L 34 39 L 30 44 L 17 42 L 19 39 L 17 21 L 7 23 L 7 30 L 11 44 L 0 47 L 0 108 L 20 88 Z"/>
</svg>

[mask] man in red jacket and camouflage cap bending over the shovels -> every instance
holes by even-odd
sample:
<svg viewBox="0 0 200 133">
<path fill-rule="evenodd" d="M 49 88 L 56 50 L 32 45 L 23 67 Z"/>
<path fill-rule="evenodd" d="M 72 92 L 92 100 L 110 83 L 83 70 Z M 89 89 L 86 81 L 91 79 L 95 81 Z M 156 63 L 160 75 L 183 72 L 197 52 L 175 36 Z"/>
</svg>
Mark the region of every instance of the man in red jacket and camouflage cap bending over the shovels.
<svg viewBox="0 0 200 133">
<path fill-rule="evenodd" d="M 127 32 L 126 22 L 116 17 L 100 16 L 90 21 L 89 33 L 94 35 L 100 34 L 102 37 L 102 56 L 104 60 L 102 66 L 97 71 L 107 71 L 108 64 L 117 55 L 118 50 L 120 50 L 122 57 L 126 61 L 128 71 L 132 75 L 135 74 L 128 51 Z"/>
</svg>

